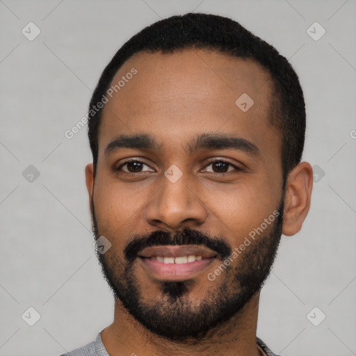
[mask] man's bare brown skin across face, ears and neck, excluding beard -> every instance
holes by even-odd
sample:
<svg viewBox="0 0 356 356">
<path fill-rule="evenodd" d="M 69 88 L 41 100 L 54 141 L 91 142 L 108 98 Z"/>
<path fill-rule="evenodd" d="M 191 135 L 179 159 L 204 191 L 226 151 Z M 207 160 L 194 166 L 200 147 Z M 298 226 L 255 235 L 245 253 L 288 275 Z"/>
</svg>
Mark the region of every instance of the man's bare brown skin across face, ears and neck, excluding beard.
<svg viewBox="0 0 356 356">
<path fill-rule="evenodd" d="M 191 228 L 224 238 L 232 249 L 259 227 L 278 207 L 282 197 L 281 135 L 268 122 L 273 92 L 268 73 L 252 60 L 232 58 L 204 49 L 175 54 L 138 53 L 129 58 L 113 79 L 135 67 L 138 73 L 125 83 L 104 107 L 99 128 L 97 174 L 86 166 L 86 184 L 95 204 L 99 233 L 115 236 L 111 253 L 122 257 L 127 237 L 156 230 L 177 232 Z M 235 101 L 248 93 L 254 105 L 243 112 Z M 156 149 L 117 149 L 106 146 L 120 135 L 145 133 L 158 143 Z M 236 149 L 186 150 L 202 133 L 238 136 L 259 149 L 252 155 Z M 124 159 L 144 161 L 144 172 L 128 175 L 116 171 Z M 223 159 L 234 166 L 223 175 L 211 162 Z M 175 164 L 183 175 L 174 184 L 164 172 Z M 127 170 L 127 166 L 122 168 Z M 284 196 L 282 233 L 300 231 L 312 193 L 312 168 L 302 162 L 290 173 Z M 189 292 L 199 303 L 211 288 L 207 273 L 195 278 Z M 160 300 L 161 294 L 143 266 L 136 277 L 143 297 Z M 222 275 L 214 282 L 219 286 Z M 200 343 L 177 343 L 147 332 L 115 302 L 113 323 L 102 332 L 108 353 L 115 355 L 260 355 L 256 344 L 259 293 L 241 312 L 213 330 Z"/>
</svg>

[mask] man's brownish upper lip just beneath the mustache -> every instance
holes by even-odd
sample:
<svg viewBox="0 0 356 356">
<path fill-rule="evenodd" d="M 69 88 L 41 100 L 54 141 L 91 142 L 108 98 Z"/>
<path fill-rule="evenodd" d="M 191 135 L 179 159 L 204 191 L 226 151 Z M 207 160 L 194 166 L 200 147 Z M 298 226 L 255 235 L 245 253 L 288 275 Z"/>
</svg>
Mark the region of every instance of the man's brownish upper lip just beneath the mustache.
<svg viewBox="0 0 356 356">
<path fill-rule="evenodd" d="M 138 252 L 138 257 L 181 257 L 194 254 L 205 258 L 216 257 L 217 253 L 200 245 L 159 245 L 144 248 Z"/>
</svg>

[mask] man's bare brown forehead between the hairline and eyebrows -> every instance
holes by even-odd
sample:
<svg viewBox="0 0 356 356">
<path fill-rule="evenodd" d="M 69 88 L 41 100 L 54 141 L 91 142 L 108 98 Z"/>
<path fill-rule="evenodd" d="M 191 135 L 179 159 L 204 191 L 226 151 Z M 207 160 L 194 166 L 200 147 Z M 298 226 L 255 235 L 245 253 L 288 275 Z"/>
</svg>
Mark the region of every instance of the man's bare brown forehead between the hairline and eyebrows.
<svg viewBox="0 0 356 356">
<path fill-rule="evenodd" d="M 175 144 L 202 132 L 236 134 L 257 145 L 273 142 L 270 154 L 279 152 L 268 122 L 270 75 L 254 60 L 204 49 L 140 52 L 115 74 L 115 85 L 102 113 L 99 156 L 115 136 L 136 133 Z"/>
</svg>

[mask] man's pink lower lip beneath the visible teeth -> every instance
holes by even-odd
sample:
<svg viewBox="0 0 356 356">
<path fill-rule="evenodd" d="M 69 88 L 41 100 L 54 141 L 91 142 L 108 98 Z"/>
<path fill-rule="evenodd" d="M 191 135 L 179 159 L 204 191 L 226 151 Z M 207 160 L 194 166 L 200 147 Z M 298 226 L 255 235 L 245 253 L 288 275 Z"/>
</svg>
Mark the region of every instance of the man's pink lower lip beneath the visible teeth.
<svg viewBox="0 0 356 356">
<path fill-rule="evenodd" d="M 144 268 L 152 273 L 156 279 L 172 281 L 188 280 L 197 277 L 214 259 L 203 258 L 200 261 L 187 262 L 186 264 L 165 264 L 154 259 L 138 257 Z"/>
</svg>

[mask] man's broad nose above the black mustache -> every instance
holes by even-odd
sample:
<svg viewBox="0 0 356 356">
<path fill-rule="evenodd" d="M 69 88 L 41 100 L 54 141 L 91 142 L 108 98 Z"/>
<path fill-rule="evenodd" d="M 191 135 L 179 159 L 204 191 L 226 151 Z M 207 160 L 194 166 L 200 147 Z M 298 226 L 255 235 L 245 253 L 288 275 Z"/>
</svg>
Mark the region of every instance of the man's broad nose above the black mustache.
<svg viewBox="0 0 356 356">
<path fill-rule="evenodd" d="M 172 183 L 162 177 L 161 188 L 147 203 L 145 218 L 149 225 L 168 231 L 193 228 L 207 220 L 207 209 L 196 189 L 188 186 L 183 175 Z"/>
</svg>

